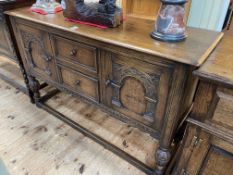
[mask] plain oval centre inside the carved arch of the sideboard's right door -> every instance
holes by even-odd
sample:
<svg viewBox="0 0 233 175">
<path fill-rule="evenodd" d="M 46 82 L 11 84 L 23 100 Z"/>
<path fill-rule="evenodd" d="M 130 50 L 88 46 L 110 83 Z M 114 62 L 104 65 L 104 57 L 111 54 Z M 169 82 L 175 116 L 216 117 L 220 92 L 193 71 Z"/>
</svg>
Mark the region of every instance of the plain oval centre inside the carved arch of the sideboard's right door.
<svg viewBox="0 0 233 175">
<path fill-rule="evenodd" d="M 134 77 L 126 77 L 120 89 L 120 101 L 122 105 L 137 114 L 146 112 L 146 89 L 143 84 Z"/>
</svg>

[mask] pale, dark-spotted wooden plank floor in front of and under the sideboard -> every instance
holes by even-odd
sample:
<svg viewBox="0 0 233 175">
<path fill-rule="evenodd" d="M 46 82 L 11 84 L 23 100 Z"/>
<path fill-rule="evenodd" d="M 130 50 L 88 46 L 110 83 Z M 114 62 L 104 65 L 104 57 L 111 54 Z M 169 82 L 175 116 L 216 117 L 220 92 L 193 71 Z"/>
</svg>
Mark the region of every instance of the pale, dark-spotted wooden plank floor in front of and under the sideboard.
<svg viewBox="0 0 233 175">
<path fill-rule="evenodd" d="M 74 121 L 154 167 L 158 143 L 67 94 L 48 102 Z M 145 144 L 146 143 L 146 144 Z M 143 175 L 0 80 L 0 159 L 11 175 Z"/>
</svg>

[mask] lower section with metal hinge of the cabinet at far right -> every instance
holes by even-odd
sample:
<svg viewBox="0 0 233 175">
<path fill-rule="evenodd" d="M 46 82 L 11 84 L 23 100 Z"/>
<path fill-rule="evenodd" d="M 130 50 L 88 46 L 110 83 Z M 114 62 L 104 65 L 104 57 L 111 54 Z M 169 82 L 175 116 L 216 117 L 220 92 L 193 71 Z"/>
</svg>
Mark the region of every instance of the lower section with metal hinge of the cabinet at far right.
<svg viewBox="0 0 233 175">
<path fill-rule="evenodd" d="M 233 145 L 190 125 L 172 175 L 232 175 Z"/>
</svg>

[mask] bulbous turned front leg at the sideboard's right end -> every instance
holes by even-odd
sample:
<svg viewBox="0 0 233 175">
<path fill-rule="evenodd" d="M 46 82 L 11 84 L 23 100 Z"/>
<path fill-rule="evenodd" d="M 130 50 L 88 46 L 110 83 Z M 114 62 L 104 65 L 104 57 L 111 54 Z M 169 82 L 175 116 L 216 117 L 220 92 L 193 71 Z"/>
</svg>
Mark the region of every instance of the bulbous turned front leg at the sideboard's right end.
<svg viewBox="0 0 233 175">
<path fill-rule="evenodd" d="M 171 159 L 171 153 L 168 149 L 163 149 L 159 147 L 159 149 L 156 151 L 156 162 L 157 167 L 155 169 L 155 175 L 163 175 L 165 172 L 165 169 L 168 165 L 168 162 Z"/>
</svg>

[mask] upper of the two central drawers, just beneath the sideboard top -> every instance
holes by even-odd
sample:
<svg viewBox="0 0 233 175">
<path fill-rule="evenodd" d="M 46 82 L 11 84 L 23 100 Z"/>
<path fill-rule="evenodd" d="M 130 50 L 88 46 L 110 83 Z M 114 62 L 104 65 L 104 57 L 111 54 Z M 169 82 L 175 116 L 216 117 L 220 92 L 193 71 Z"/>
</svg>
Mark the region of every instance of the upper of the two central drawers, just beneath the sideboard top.
<svg viewBox="0 0 233 175">
<path fill-rule="evenodd" d="M 97 49 L 59 36 L 52 36 L 56 58 L 97 73 Z"/>
</svg>

